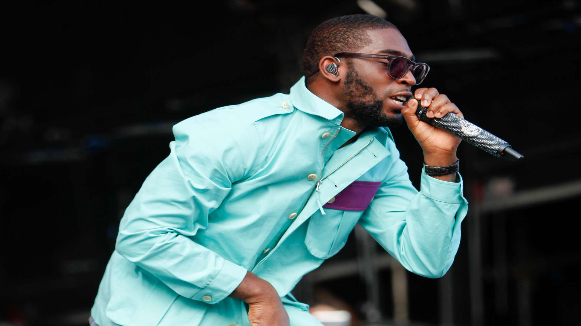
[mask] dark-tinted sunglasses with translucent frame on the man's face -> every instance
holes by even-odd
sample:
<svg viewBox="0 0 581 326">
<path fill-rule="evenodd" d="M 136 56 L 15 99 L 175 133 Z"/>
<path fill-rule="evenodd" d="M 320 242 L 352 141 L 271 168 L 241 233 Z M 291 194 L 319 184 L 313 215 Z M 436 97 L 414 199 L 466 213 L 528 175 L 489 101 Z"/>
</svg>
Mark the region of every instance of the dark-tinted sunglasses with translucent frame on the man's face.
<svg viewBox="0 0 581 326">
<path fill-rule="evenodd" d="M 402 56 L 380 56 L 380 55 L 367 55 L 364 53 L 351 53 L 351 52 L 341 52 L 334 55 L 334 57 L 367 57 L 367 58 L 378 58 L 388 60 L 388 75 L 389 77 L 399 79 L 407 74 L 408 70 L 415 78 L 415 85 L 422 84 L 422 81 L 428 75 L 430 71 L 430 66 L 421 62 L 414 62 L 407 57 Z"/>
</svg>

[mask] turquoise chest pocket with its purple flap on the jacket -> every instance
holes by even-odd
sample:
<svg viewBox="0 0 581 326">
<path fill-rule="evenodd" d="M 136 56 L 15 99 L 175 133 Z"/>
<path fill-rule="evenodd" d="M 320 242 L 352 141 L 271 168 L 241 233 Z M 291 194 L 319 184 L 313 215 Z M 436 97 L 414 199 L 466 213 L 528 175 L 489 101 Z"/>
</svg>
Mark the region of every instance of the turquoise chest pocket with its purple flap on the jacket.
<svg viewBox="0 0 581 326">
<path fill-rule="evenodd" d="M 317 258 L 327 259 L 345 247 L 349 233 L 380 185 L 381 182 L 355 181 L 336 194 L 334 200 L 323 205 L 325 215 L 315 212 L 304 239 L 309 252 Z"/>
</svg>

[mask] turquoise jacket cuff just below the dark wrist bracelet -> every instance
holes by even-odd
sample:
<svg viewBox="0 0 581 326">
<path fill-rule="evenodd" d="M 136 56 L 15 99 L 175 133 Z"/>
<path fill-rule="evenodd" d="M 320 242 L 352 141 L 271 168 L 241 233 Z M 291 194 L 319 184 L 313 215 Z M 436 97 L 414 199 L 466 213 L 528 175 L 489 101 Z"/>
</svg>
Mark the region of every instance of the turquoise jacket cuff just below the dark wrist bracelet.
<svg viewBox="0 0 581 326">
<path fill-rule="evenodd" d="M 426 175 L 424 168 L 422 168 L 419 191 L 426 197 L 436 201 L 449 202 L 450 204 L 461 204 L 462 202 L 468 204 L 468 201 L 464 198 L 463 189 L 464 182 L 460 172 L 456 173 L 456 182 L 448 182 Z"/>
</svg>

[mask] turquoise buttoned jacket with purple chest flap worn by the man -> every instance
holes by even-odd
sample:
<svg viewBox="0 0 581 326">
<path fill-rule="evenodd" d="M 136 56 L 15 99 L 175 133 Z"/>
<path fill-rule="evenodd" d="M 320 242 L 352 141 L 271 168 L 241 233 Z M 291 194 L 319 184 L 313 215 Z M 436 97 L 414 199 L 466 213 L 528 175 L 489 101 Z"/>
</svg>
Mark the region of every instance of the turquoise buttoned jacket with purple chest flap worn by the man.
<svg viewBox="0 0 581 326">
<path fill-rule="evenodd" d="M 468 211 L 462 178 L 421 171 L 421 189 L 388 128 L 356 133 L 306 88 L 216 108 L 174 125 L 170 154 L 119 226 L 91 314 L 105 325 L 245 325 L 228 295 L 252 271 L 292 325 L 321 325 L 290 291 L 335 255 L 358 223 L 413 273 L 441 277 Z M 420 171 L 418 171 L 420 173 Z"/>
</svg>

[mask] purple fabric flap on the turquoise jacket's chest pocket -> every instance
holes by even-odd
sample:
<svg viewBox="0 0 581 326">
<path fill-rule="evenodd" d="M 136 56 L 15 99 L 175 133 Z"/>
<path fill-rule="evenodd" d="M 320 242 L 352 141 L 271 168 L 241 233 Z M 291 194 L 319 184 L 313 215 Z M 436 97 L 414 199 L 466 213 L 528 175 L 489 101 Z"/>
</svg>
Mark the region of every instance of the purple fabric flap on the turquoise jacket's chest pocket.
<svg viewBox="0 0 581 326">
<path fill-rule="evenodd" d="M 343 211 L 365 211 L 380 185 L 381 181 L 354 181 L 335 195 L 335 201 L 323 207 Z"/>
</svg>

